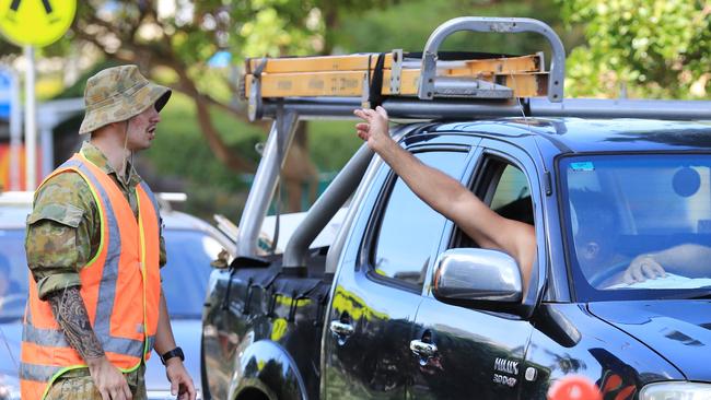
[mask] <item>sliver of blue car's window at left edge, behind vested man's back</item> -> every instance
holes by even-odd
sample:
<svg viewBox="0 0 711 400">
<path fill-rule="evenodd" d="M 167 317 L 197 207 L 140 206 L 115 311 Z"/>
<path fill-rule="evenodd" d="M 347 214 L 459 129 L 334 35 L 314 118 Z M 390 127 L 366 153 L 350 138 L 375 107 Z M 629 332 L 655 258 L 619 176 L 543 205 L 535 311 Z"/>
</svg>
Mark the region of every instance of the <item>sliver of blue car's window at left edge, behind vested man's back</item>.
<svg viewBox="0 0 711 400">
<path fill-rule="evenodd" d="M 0 230 L 0 320 L 22 317 L 28 273 L 25 231 Z"/>
</svg>

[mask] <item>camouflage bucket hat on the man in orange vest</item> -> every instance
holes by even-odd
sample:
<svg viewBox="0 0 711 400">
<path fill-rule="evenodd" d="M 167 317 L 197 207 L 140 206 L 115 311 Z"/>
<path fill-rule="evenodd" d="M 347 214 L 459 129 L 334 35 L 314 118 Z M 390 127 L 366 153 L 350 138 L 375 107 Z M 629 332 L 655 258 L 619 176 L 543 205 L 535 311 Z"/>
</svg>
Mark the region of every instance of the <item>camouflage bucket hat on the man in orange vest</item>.
<svg viewBox="0 0 711 400">
<path fill-rule="evenodd" d="M 91 133 L 112 122 L 127 120 L 155 106 L 160 111 L 171 97 L 171 90 L 147 80 L 136 66 L 120 66 L 100 71 L 86 81 L 86 111 L 79 134 Z"/>
</svg>

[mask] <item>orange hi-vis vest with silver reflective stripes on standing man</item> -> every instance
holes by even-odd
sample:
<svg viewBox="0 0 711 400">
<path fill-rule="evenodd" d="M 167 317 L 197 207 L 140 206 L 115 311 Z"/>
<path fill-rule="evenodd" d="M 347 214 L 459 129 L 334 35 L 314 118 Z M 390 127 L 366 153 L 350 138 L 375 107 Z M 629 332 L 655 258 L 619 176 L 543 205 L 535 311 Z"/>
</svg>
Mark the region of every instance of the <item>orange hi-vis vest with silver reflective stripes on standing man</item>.
<svg viewBox="0 0 711 400">
<path fill-rule="evenodd" d="M 158 329 L 161 296 L 158 202 L 144 183 L 138 185 L 137 221 L 116 183 L 83 155 L 74 154 L 47 179 L 66 172 L 78 173 L 86 181 L 100 212 L 98 250 L 79 272 L 89 320 L 108 361 L 120 370 L 130 372 L 149 358 Z M 65 338 L 49 302 L 39 299 L 32 277 L 21 354 L 23 400 L 44 399 L 61 374 L 86 366 Z"/>
</svg>

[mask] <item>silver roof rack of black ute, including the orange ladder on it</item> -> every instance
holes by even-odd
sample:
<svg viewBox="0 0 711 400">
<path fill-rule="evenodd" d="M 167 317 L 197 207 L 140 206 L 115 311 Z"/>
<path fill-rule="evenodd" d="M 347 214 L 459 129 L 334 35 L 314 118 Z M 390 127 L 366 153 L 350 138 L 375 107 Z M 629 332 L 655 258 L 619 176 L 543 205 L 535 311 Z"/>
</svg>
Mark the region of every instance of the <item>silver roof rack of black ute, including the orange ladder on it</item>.
<svg viewBox="0 0 711 400">
<path fill-rule="evenodd" d="M 546 69 L 543 52 L 440 52 L 444 39 L 461 31 L 543 35 L 551 48 L 550 68 Z M 248 59 L 241 92 L 248 101 L 249 118 L 275 122 L 240 222 L 237 255 L 256 256 L 259 227 L 299 120 L 354 118 L 354 109 L 376 105 L 400 120 L 522 115 L 711 120 L 711 102 L 564 98 L 564 66 L 563 45 L 547 24 L 533 19 L 479 16 L 443 23 L 430 35 L 422 54 L 397 49 L 386 54 Z M 351 169 L 362 169 L 363 163 Z M 342 180 L 348 184 L 334 190 L 352 189 L 349 179 Z M 322 220 L 329 217 L 320 215 Z M 313 232 L 308 235 L 313 236 Z M 285 260 L 302 258 L 301 252 L 284 255 Z"/>
</svg>

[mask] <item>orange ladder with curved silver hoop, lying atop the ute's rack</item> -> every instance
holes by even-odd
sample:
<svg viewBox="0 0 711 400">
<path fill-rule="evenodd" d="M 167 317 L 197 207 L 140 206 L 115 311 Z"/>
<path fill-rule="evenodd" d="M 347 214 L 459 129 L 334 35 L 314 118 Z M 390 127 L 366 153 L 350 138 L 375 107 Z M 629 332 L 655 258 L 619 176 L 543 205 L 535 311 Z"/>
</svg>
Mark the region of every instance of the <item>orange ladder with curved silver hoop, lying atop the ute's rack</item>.
<svg viewBox="0 0 711 400">
<path fill-rule="evenodd" d="M 543 52 L 440 55 L 439 47 L 444 39 L 459 31 L 538 33 L 552 49 L 550 72 L 546 71 Z M 265 107 L 301 97 L 315 99 L 317 108 L 319 104 L 329 105 L 331 97 L 349 98 L 349 104 L 356 101 L 359 107 L 374 106 L 386 98 L 415 103 L 452 98 L 501 103 L 547 95 L 556 103 L 563 97 L 564 61 L 560 38 L 540 21 L 468 16 L 440 25 L 420 55 L 396 49 L 387 54 L 248 59 L 242 95 L 249 102 L 253 120 L 273 118 L 276 114 L 270 110 L 265 114 Z"/>
</svg>

